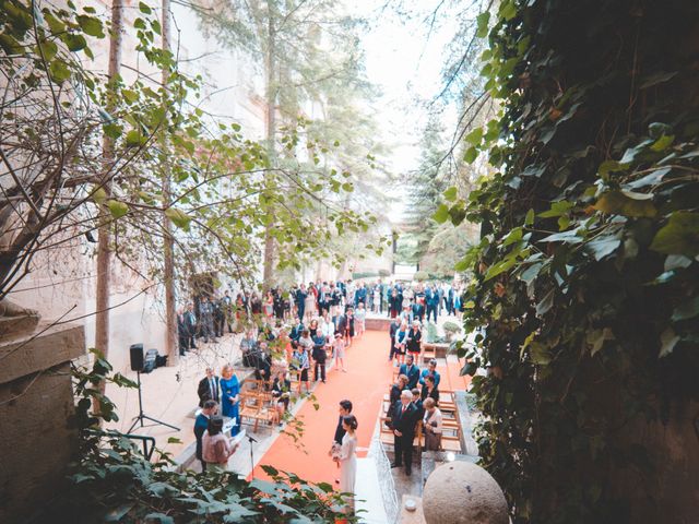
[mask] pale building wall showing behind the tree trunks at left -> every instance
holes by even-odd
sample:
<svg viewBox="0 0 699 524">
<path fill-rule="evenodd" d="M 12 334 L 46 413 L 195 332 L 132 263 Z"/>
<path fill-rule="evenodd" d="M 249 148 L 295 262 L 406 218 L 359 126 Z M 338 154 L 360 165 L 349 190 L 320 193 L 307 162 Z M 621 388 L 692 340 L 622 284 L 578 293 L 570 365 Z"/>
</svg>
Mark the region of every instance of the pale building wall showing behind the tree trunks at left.
<svg viewBox="0 0 699 524">
<path fill-rule="evenodd" d="M 143 0 L 156 11 L 159 2 Z M 93 5 L 103 20 L 109 19 L 110 2 L 84 1 Z M 132 26 L 140 15 L 139 0 L 127 0 L 126 25 Z M 230 123 L 237 122 L 244 133 L 253 140 L 264 135 L 264 105 L 260 75 L 250 59 L 242 53 L 220 49 L 215 39 L 206 38 L 200 29 L 197 15 L 188 8 L 173 4 L 173 49 L 179 52 L 182 69 L 190 74 L 202 74 L 202 98 L 192 99 L 204 111 Z M 85 67 L 106 73 L 108 40 L 94 43 L 94 62 Z M 135 80 L 137 71 L 159 79 L 157 71 L 149 70 L 144 60 L 134 52 L 135 37 L 127 33 L 123 40 L 121 74 L 128 84 Z M 96 231 L 94 233 L 96 237 Z M 69 246 L 35 257 L 32 272 L 10 294 L 10 299 L 39 311 L 43 322 L 73 321 L 85 326 L 87 347 L 95 344 L 96 257 L 94 243 L 80 237 Z M 165 323 L 163 290 L 114 260 L 112 295 L 110 297 L 110 354 L 116 370 L 129 367 L 129 346 L 143 343 L 165 353 Z"/>
</svg>

